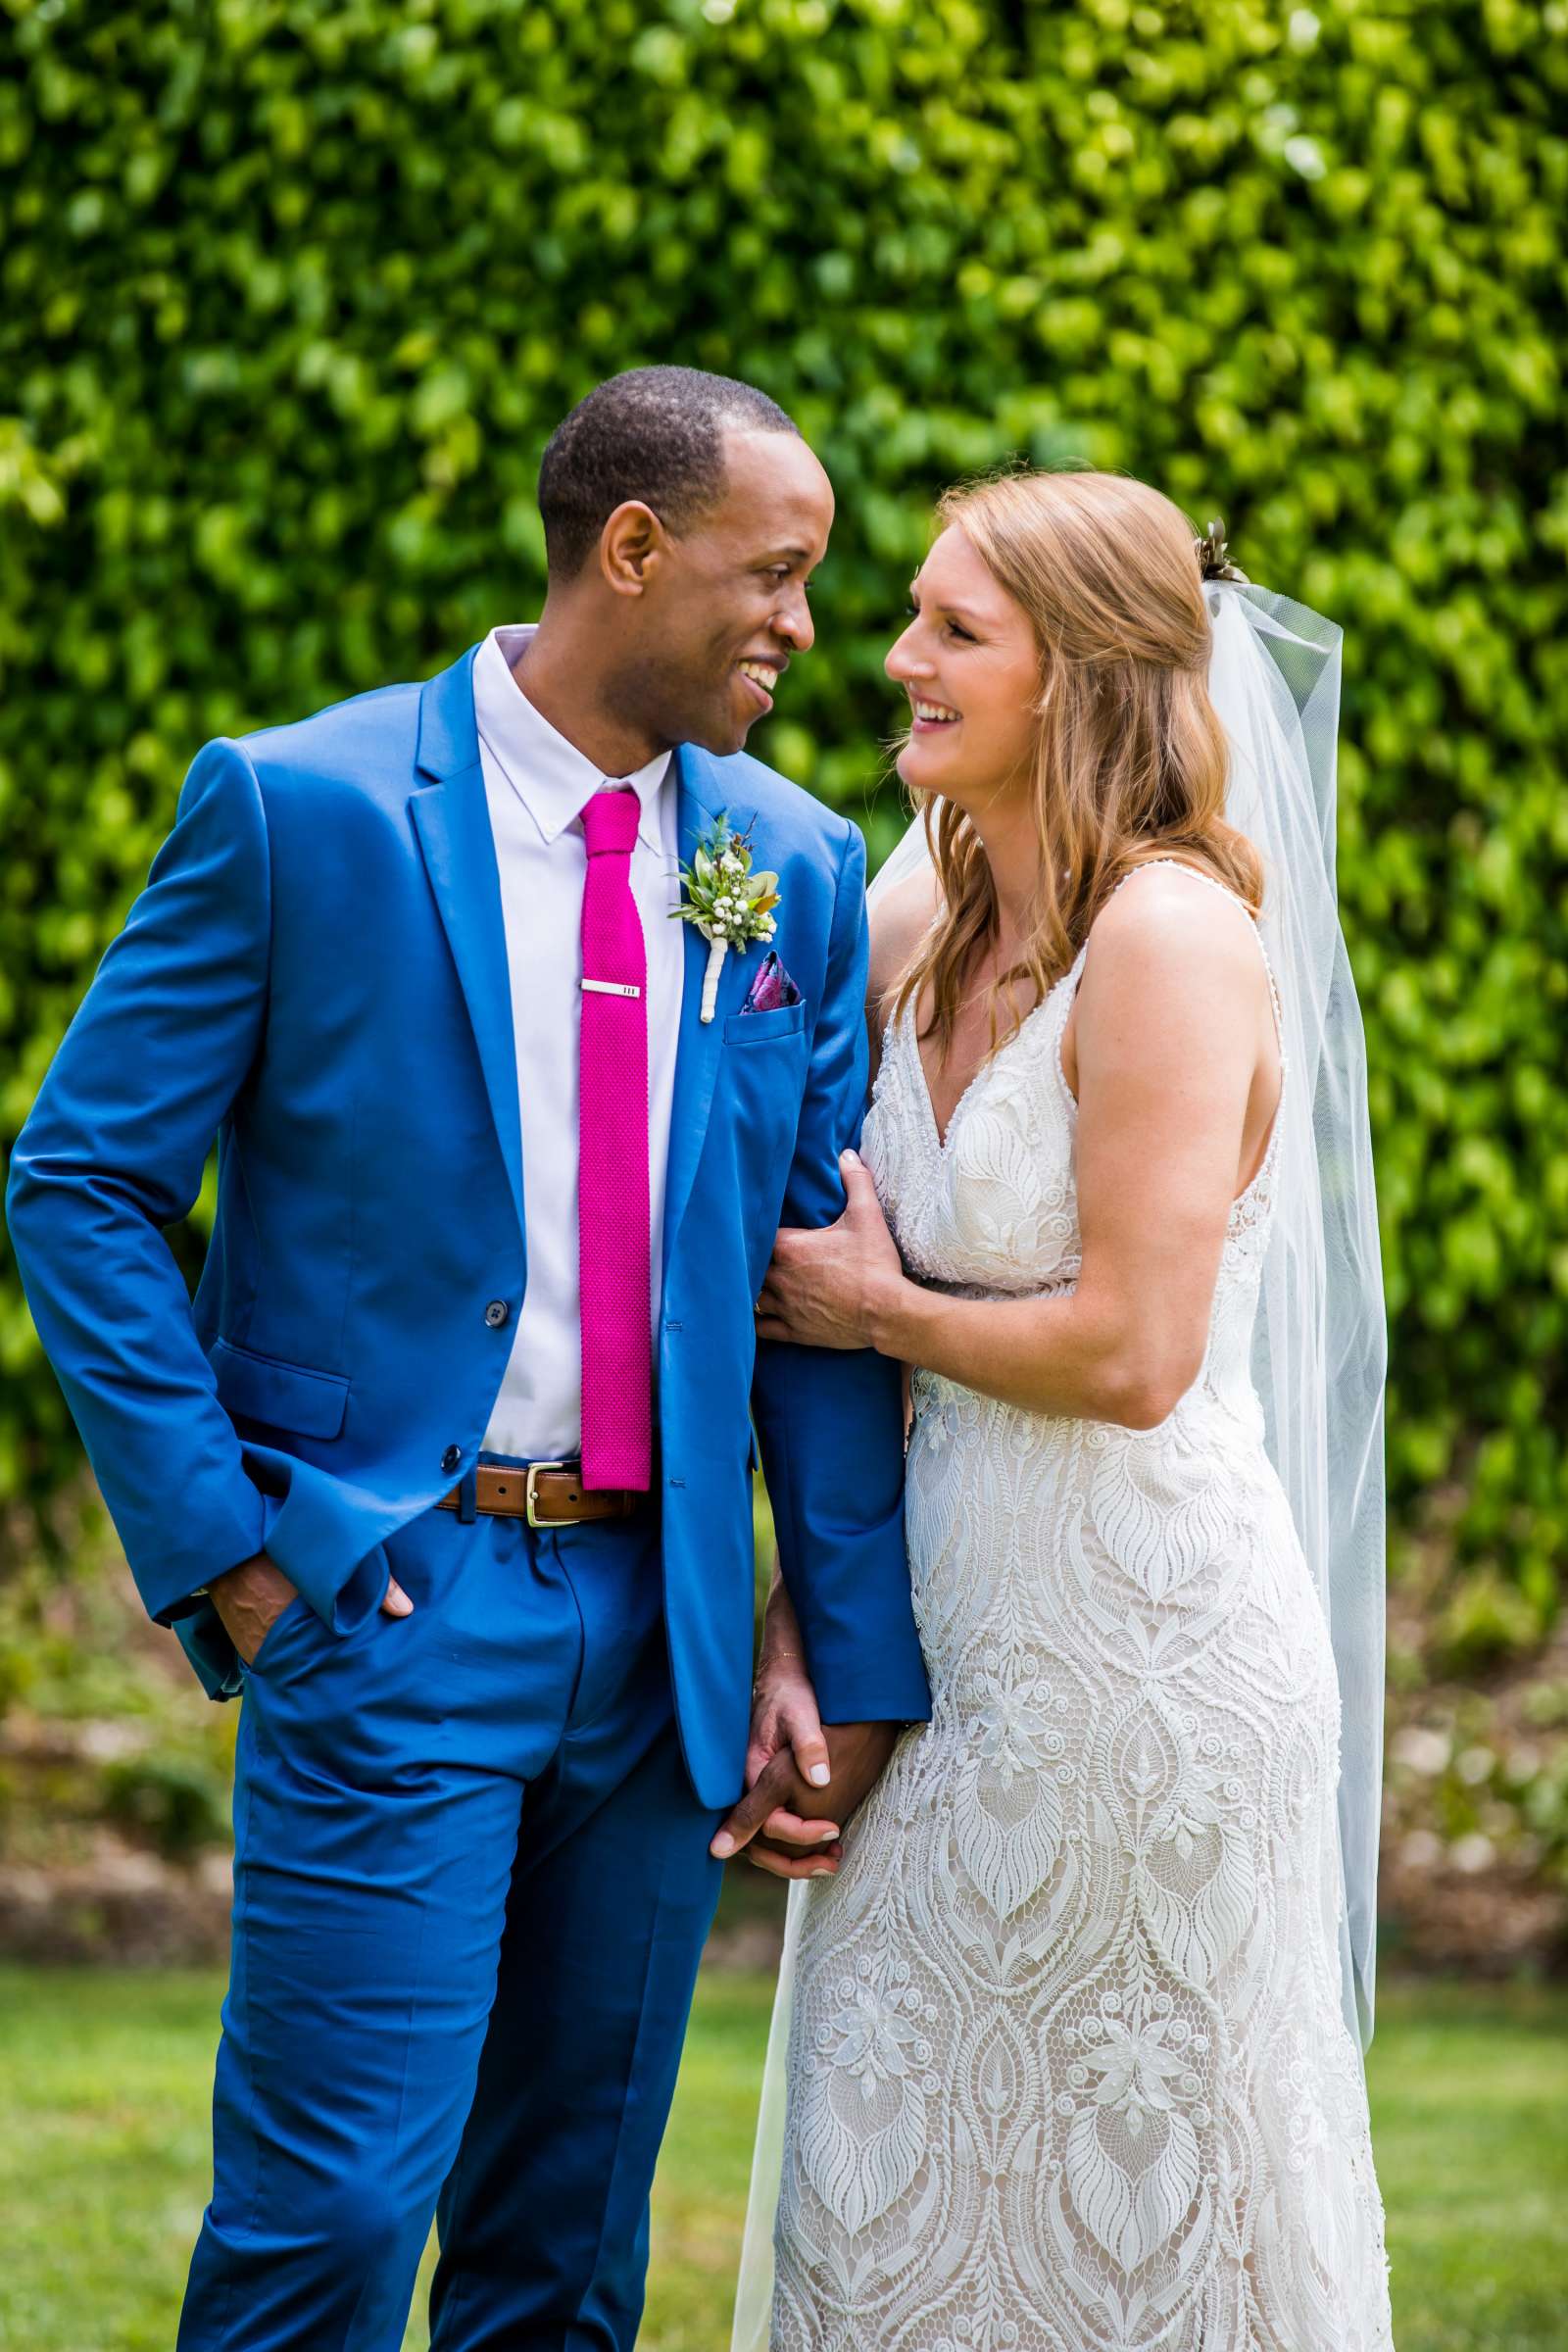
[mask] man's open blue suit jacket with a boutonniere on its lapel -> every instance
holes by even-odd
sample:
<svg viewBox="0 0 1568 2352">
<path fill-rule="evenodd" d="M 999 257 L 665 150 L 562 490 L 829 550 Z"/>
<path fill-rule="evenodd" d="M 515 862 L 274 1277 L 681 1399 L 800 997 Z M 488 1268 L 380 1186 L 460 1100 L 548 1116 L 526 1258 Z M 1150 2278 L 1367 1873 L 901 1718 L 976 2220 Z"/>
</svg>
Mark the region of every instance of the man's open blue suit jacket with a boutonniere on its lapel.
<svg viewBox="0 0 1568 2352">
<path fill-rule="evenodd" d="M 703 1804 L 748 1726 L 755 1463 L 830 1722 L 929 1710 L 903 1550 L 898 1371 L 757 1345 L 773 1228 L 832 1221 L 865 1101 L 865 851 L 750 757 L 677 753 L 682 856 L 722 809 L 780 875 L 804 1002 L 698 1021 L 686 927 L 658 1319 L 670 1665 Z M 268 1550 L 348 1632 L 386 1538 L 477 1451 L 527 1287 L 501 882 L 473 654 L 209 743 L 16 1143 L 28 1303 L 148 1611 L 240 1689 L 193 1588 Z M 162 1228 L 219 1204 L 195 1303 Z M 512 1317 L 491 1329 L 484 1308 Z"/>
</svg>

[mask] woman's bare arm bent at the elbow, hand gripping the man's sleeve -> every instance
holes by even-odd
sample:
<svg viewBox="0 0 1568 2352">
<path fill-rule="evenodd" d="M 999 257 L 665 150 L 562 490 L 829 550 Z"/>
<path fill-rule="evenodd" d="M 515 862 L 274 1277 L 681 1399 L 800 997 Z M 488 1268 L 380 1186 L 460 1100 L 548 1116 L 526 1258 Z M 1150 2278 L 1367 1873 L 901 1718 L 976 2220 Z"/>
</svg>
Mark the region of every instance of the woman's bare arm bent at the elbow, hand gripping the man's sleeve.
<svg viewBox="0 0 1568 2352">
<path fill-rule="evenodd" d="M 1067 1296 L 971 1301 L 907 1282 L 865 1169 L 825 1232 L 780 1232 L 762 1329 L 865 1345 L 1037 1414 L 1154 1428 L 1192 1385 L 1260 1040 L 1258 946 L 1150 877 L 1095 924 L 1077 1000 L 1084 1263 Z"/>
</svg>

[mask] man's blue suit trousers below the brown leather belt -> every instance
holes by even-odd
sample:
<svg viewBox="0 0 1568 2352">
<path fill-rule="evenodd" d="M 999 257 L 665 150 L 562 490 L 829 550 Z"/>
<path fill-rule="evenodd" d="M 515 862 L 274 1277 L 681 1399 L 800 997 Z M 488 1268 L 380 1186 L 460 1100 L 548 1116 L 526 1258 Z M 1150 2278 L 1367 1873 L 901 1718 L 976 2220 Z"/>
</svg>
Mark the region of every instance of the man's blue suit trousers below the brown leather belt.
<svg viewBox="0 0 1568 2352">
<path fill-rule="evenodd" d="M 433 2216 L 435 2352 L 630 2352 L 719 1891 L 658 1526 L 428 1510 L 388 1552 L 409 1618 L 301 1597 L 244 1672 L 179 2352 L 397 2352 Z"/>
</svg>

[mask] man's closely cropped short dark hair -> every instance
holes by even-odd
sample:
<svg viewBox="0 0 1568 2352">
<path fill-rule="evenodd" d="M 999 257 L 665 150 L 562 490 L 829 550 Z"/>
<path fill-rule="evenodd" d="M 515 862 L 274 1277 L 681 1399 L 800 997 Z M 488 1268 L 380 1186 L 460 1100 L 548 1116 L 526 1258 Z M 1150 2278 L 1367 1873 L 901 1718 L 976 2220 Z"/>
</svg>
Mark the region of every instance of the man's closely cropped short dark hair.
<svg viewBox="0 0 1568 2352">
<path fill-rule="evenodd" d="M 799 435 L 755 383 L 701 367 L 628 367 L 595 386 L 555 428 L 538 466 L 550 572 L 574 579 L 628 499 L 684 532 L 724 496 L 724 433 L 733 428 Z"/>
</svg>

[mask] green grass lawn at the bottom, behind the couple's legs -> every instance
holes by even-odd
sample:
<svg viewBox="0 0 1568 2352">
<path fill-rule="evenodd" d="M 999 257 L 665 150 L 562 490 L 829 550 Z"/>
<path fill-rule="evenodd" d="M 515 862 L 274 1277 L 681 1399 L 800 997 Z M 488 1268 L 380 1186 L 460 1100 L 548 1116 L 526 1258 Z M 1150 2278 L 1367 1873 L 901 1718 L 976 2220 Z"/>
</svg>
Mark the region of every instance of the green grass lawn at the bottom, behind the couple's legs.
<svg viewBox="0 0 1568 2352">
<path fill-rule="evenodd" d="M 0 2345 L 169 2352 L 207 2197 L 221 1983 L 0 1969 Z M 722 2352 L 769 1985 L 708 1973 L 644 2345 Z M 1396 1985 L 1371 2060 L 1399 2352 L 1568 2340 L 1568 1994 Z M 404 2352 L 428 2343 L 423 2298 Z"/>
</svg>

